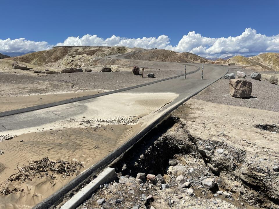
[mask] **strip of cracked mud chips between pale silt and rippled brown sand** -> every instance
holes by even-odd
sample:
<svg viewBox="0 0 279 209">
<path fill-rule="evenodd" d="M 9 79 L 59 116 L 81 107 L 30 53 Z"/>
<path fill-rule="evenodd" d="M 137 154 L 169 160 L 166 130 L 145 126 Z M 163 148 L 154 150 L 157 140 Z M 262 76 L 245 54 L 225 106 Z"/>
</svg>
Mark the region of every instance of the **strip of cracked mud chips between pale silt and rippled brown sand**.
<svg viewBox="0 0 279 209">
<path fill-rule="evenodd" d="M 114 117 L 114 118 L 90 118 L 86 119 L 85 117 L 81 119 L 81 122 L 91 123 L 91 122 L 105 122 L 109 124 L 135 124 L 139 121 L 139 118 L 136 116 L 130 117 Z"/>
</svg>

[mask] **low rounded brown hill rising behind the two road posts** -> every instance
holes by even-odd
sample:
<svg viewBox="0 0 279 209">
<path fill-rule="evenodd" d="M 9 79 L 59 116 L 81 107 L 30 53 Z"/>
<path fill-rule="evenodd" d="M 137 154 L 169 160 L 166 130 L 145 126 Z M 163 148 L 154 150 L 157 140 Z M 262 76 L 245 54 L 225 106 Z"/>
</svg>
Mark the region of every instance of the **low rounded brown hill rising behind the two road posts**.
<svg viewBox="0 0 279 209">
<path fill-rule="evenodd" d="M 142 51 L 139 53 L 128 54 L 125 56 L 128 59 L 133 60 L 149 60 L 149 61 L 160 61 L 160 62 L 190 62 L 190 63 L 206 63 L 208 60 L 198 55 L 183 52 L 178 53 L 171 50 L 157 49 Z"/>
</svg>

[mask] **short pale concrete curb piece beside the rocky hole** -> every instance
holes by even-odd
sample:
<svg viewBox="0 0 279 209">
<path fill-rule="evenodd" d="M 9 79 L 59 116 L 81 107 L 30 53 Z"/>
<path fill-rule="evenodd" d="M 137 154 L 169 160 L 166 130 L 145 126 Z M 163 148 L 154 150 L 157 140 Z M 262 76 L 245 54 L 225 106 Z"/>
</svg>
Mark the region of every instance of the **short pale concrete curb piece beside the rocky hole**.
<svg viewBox="0 0 279 209">
<path fill-rule="evenodd" d="M 69 199 L 61 209 L 74 209 L 79 206 L 87 197 L 89 197 L 94 191 L 96 191 L 100 185 L 111 182 L 116 179 L 115 169 L 107 167 L 103 170 L 96 179 L 91 181 L 87 186 L 82 188 L 71 199 Z"/>
</svg>

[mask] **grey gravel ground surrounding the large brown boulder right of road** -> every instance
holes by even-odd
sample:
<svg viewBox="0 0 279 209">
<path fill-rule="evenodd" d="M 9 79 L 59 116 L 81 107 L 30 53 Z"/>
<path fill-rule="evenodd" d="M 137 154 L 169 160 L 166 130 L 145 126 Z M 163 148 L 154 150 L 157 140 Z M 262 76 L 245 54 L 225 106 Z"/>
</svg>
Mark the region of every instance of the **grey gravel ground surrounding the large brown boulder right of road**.
<svg viewBox="0 0 279 209">
<path fill-rule="evenodd" d="M 229 80 L 220 79 L 211 84 L 209 87 L 201 91 L 193 98 L 217 104 L 235 105 L 241 107 L 250 107 L 255 109 L 264 109 L 279 112 L 279 86 L 270 84 L 267 80 L 254 80 L 250 78 L 250 74 L 255 72 L 251 69 L 239 69 L 235 66 L 229 66 L 228 73 L 242 71 L 246 73 L 248 81 L 252 82 L 251 98 L 241 99 L 231 97 L 229 94 Z M 279 72 L 264 71 L 265 74 L 276 74 Z M 237 76 L 236 76 L 237 78 Z M 238 78 L 239 79 L 239 78 Z"/>
</svg>

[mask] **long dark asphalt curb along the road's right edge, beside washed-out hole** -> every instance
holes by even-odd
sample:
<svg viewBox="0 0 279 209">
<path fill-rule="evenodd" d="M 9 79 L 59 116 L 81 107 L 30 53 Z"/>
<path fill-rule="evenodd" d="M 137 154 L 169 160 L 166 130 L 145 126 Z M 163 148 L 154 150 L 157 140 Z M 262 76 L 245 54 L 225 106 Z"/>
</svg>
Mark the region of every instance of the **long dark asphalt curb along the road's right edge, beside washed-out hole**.
<svg viewBox="0 0 279 209">
<path fill-rule="evenodd" d="M 228 69 L 226 71 L 226 73 L 228 73 Z M 220 78 L 212 81 L 211 83 L 205 85 L 204 87 L 202 87 L 201 89 L 199 89 L 198 91 L 194 92 L 191 96 L 181 100 L 180 102 L 178 102 L 174 107 L 172 107 L 171 109 L 169 109 L 167 112 L 165 112 L 162 116 L 160 116 L 159 118 L 157 118 L 155 121 L 153 121 L 151 124 L 149 124 L 146 128 L 144 128 L 143 130 L 141 130 L 137 135 L 133 136 L 132 138 L 130 138 L 128 141 L 126 141 L 123 145 L 121 145 L 120 147 L 118 147 L 117 149 L 115 149 L 113 152 L 111 152 L 110 154 L 108 154 L 107 156 L 105 156 L 104 158 L 102 158 L 100 161 L 98 161 L 96 164 L 94 164 L 92 167 L 90 167 L 89 169 L 87 169 L 85 172 L 83 172 L 82 174 L 80 174 L 79 176 L 77 176 L 75 179 L 73 179 L 72 181 L 70 181 L 69 183 L 67 183 L 65 186 L 63 186 L 62 188 L 60 188 L 58 191 L 56 191 L 55 193 L 53 193 L 51 196 L 47 197 L 46 199 L 44 199 L 42 202 L 38 203 L 37 205 L 35 205 L 33 207 L 33 209 L 48 209 L 51 206 L 53 206 L 57 201 L 59 201 L 62 197 L 65 196 L 65 194 L 67 194 L 70 190 L 74 189 L 76 186 L 78 186 L 78 184 L 80 184 L 82 181 L 84 181 L 88 176 L 90 176 L 90 174 L 99 171 L 101 169 L 103 169 L 105 166 L 109 165 L 112 161 L 114 161 L 116 158 L 118 158 L 119 156 L 121 156 L 121 154 L 123 154 L 124 152 L 126 152 L 131 146 L 133 146 L 136 142 L 138 142 L 141 138 L 143 138 L 146 134 L 149 133 L 149 131 L 151 131 L 154 127 L 156 127 L 158 124 L 160 124 L 161 121 L 163 121 L 167 116 L 169 116 L 169 114 L 174 111 L 177 107 L 179 107 L 181 104 L 183 104 L 184 102 L 186 102 L 187 100 L 189 100 L 190 98 L 192 98 L 193 96 L 197 95 L 198 93 L 200 93 L 203 89 L 205 89 L 206 87 L 210 86 L 211 84 L 213 84 L 214 82 L 218 81 L 219 79 L 223 78 L 224 75 L 226 75 L 226 73 L 224 73 Z"/>
</svg>

